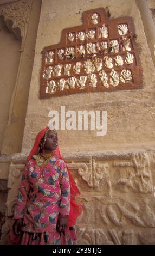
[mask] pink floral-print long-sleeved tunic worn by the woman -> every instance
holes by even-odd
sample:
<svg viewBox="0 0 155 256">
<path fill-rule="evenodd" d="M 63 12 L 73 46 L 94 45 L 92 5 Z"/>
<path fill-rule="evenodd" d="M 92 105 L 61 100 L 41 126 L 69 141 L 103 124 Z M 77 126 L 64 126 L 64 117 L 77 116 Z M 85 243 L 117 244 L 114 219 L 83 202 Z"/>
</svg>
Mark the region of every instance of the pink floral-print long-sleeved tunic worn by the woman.
<svg viewBox="0 0 155 256">
<path fill-rule="evenodd" d="M 59 212 L 69 215 L 70 211 L 66 163 L 51 157 L 45 167 L 39 168 L 36 160 L 30 159 L 25 165 L 17 197 L 14 218 L 23 218 L 22 231 L 53 232 Z"/>
</svg>

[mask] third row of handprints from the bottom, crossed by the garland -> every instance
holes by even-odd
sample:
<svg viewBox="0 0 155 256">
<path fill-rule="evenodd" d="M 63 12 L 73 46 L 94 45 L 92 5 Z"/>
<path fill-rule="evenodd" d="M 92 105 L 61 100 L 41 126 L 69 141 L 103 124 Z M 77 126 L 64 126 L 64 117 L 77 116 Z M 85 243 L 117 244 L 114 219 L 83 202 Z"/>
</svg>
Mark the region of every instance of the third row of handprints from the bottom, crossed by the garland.
<svg viewBox="0 0 155 256">
<path fill-rule="evenodd" d="M 118 53 L 121 51 L 131 51 L 130 38 L 124 37 L 119 42 L 118 40 L 111 40 L 110 52 Z M 121 47 L 120 47 L 121 46 Z M 85 57 L 86 54 L 107 54 L 109 53 L 107 41 L 101 41 L 100 43 L 88 42 L 86 45 L 79 45 L 79 47 L 68 47 L 66 51 L 64 49 L 57 50 L 57 56 L 60 60 L 73 59 L 75 55 Z M 76 54 L 77 53 L 77 54 Z M 46 53 L 46 64 L 51 64 L 55 61 L 55 51 L 48 51 Z"/>
</svg>

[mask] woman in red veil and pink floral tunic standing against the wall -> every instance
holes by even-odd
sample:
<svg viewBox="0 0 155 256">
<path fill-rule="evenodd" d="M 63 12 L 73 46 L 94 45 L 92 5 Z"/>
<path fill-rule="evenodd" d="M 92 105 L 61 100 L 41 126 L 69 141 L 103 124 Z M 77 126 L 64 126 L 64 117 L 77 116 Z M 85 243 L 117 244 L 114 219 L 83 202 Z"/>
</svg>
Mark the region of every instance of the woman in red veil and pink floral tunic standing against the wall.
<svg viewBox="0 0 155 256">
<path fill-rule="evenodd" d="M 25 164 L 9 243 L 75 243 L 74 224 L 82 211 L 76 194 L 80 192 L 62 160 L 57 133 L 46 127 L 38 133 Z"/>
</svg>

